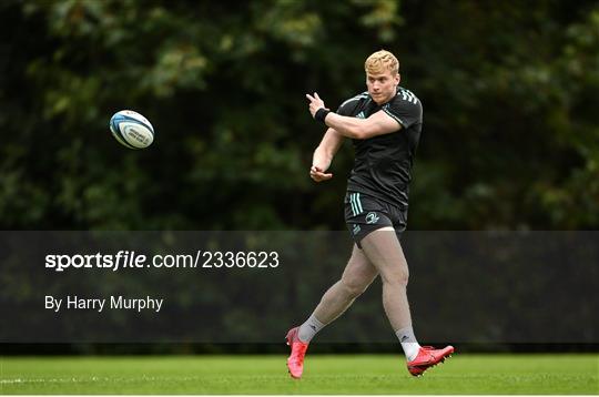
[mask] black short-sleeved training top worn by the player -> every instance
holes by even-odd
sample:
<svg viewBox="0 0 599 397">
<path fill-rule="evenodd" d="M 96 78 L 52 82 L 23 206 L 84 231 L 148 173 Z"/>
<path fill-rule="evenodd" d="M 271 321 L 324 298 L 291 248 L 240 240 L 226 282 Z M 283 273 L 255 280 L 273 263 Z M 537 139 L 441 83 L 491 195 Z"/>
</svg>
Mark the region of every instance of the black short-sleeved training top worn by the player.
<svg viewBox="0 0 599 397">
<path fill-rule="evenodd" d="M 366 140 L 352 140 L 356 151 L 347 191 L 370 195 L 407 208 L 412 164 L 423 129 L 423 105 L 410 91 L 398 86 L 395 96 L 378 105 L 368 92 L 345 101 L 337 113 L 367 119 L 383 110 L 402 129 Z"/>
</svg>

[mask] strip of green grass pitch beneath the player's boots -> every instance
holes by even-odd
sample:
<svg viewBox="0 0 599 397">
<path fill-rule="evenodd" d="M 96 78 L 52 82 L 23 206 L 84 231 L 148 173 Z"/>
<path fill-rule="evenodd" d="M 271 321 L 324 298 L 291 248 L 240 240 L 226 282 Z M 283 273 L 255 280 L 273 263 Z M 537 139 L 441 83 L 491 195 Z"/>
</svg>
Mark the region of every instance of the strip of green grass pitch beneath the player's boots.
<svg viewBox="0 0 599 397">
<path fill-rule="evenodd" d="M 399 356 L 2 357 L 1 394 L 599 394 L 599 355 L 454 355 L 413 378 Z"/>
</svg>

